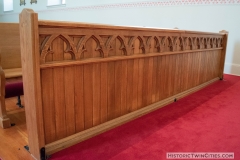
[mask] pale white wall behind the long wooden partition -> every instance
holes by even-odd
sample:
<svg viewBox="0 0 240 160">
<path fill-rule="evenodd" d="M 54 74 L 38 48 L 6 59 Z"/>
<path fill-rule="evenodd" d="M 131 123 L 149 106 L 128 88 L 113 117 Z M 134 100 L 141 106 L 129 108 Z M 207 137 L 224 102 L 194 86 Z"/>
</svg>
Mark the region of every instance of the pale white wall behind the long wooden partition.
<svg viewBox="0 0 240 160">
<path fill-rule="evenodd" d="M 141 3 L 139 0 L 66 0 L 65 6 L 47 7 L 47 0 L 39 0 L 37 4 L 32 5 L 28 2 L 25 6 L 19 6 L 19 3 L 14 1 L 14 11 L 4 13 L 0 8 L 0 22 L 18 22 L 21 10 L 32 8 L 38 12 L 39 19 L 45 20 L 160 28 L 178 27 L 183 30 L 211 32 L 224 29 L 229 31 L 225 73 L 240 75 L 239 2 L 232 1 L 232 4 L 229 4 L 230 2 L 165 4 L 165 2 L 167 1 Z"/>
</svg>

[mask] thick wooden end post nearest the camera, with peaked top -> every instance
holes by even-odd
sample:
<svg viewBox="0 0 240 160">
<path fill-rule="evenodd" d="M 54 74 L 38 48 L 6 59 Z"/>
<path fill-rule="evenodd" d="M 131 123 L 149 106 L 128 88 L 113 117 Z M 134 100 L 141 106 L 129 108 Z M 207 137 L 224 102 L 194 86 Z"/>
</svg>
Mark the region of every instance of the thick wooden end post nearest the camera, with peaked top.
<svg viewBox="0 0 240 160">
<path fill-rule="evenodd" d="M 28 145 L 30 153 L 41 159 L 40 149 L 45 146 L 39 61 L 36 53 L 38 47 L 37 14 L 25 9 L 19 16 L 20 45 L 25 98 L 26 124 L 28 128 Z M 22 24 L 22 25 L 21 25 Z M 31 66 L 31 67 L 30 67 Z M 32 81 L 34 80 L 34 81 Z"/>
</svg>

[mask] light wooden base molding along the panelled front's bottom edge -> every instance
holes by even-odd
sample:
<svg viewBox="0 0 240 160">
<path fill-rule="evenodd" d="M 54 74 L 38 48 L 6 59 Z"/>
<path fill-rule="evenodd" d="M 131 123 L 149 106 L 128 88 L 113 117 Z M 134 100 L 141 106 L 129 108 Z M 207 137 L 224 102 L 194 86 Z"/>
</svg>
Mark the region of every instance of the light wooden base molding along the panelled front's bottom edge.
<svg viewBox="0 0 240 160">
<path fill-rule="evenodd" d="M 134 112 L 131 112 L 129 114 L 126 114 L 126 115 L 123 115 L 121 117 L 118 117 L 118 118 L 115 118 L 111 121 L 108 121 L 108 122 L 105 122 L 103 124 L 100 124 L 98 126 L 95 126 L 95 127 L 92 127 L 90 129 L 87 129 L 87 130 L 84 130 L 80 133 L 77 133 L 77 134 L 74 134 L 74 135 L 71 135 L 71 136 L 68 136 L 66 138 L 63 138 L 61 140 L 58 140 L 58 141 L 55 141 L 53 143 L 50 143 L 50 144 L 47 144 L 45 146 L 45 150 L 46 150 L 46 154 L 47 155 L 51 155 L 55 152 L 58 152 L 60 150 L 63 150 L 67 147 L 70 147 L 72 145 L 75 145 L 77 143 L 80 143 L 84 140 L 87 140 L 91 137 L 94 137 L 98 134 L 101 134 L 103 132 L 106 132 L 112 128 L 115 128 L 117 126 L 120 126 L 121 124 L 124 124 L 124 123 L 127 123 L 133 119 L 136 119 L 138 117 L 141 117 L 147 113 L 150 113 L 152 111 L 155 111 L 157 109 L 160 109 L 170 103 L 173 103 L 176 99 L 181 99 L 183 97 L 186 97 L 187 95 L 189 94 L 192 94 L 198 90 L 201 90 L 202 88 L 216 82 L 220 80 L 219 77 L 216 77 L 208 82 L 205 82 L 201 85 L 198 85 L 194 88 L 191 88 L 189 90 L 186 90 L 184 92 L 181 92 L 179 94 L 176 94 L 174 96 L 171 96 L 169 98 L 166 98 L 164 100 L 161 100 L 159 102 L 156 102 L 154 104 L 151 104 L 149 106 L 146 106 L 142 109 L 139 109 L 139 110 L 136 110 Z"/>
</svg>

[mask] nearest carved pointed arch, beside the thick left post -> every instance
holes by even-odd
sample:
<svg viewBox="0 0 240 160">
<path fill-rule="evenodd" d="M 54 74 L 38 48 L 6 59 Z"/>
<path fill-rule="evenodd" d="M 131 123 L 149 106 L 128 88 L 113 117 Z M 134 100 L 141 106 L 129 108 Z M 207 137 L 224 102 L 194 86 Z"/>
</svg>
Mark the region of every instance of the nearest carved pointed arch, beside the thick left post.
<svg viewBox="0 0 240 160">
<path fill-rule="evenodd" d="M 66 49 L 63 50 L 63 53 L 69 53 L 72 57 L 72 60 L 76 59 L 76 54 L 77 50 L 76 47 L 74 46 L 74 42 L 72 39 L 65 34 L 52 34 L 50 36 L 47 36 L 41 45 L 40 48 L 40 63 L 46 63 L 46 57 L 48 54 L 57 54 L 56 51 L 52 49 L 53 41 L 56 40 L 57 38 L 60 38 L 63 42 L 66 43 Z M 61 48 L 64 48 L 64 46 L 58 46 Z M 64 60 L 64 58 L 62 59 Z M 52 60 L 53 61 L 53 60 Z"/>
</svg>

